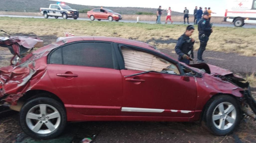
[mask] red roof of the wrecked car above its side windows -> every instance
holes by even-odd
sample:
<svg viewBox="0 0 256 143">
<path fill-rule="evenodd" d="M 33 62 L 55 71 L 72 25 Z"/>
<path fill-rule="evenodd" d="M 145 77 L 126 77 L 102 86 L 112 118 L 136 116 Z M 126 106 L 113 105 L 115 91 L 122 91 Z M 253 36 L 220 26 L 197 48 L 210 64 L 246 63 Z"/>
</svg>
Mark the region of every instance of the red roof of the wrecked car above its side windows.
<svg viewBox="0 0 256 143">
<path fill-rule="evenodd" d="M 132 46 L 137 46 L 141 48 L 146 48 L 150 50 L 154 50 L 154 47 L 146 44 L 141 41 L 135 41 L 130 39 L 118 38 L 118 37 L 103 37 L 103 36 L 72 36 L 61 38 L 61 40 L 67 41 L 66 43 L 74 42 L 74 41 L 107 41 L 107 42 L 115 42 L 120 44 L 127 44 Z"/>
</svg>

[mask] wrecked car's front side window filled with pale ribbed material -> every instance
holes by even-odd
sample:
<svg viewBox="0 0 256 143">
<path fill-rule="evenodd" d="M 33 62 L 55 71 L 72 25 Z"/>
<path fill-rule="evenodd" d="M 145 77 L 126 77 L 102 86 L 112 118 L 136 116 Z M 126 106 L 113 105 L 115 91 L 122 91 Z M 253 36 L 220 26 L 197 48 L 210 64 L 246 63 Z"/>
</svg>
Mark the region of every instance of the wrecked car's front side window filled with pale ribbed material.
<svg viewBox="0 0 256 143">
<path fill-rule="evenodd" d="M 121 46 L 125 69 L 180 74 L 176 65 L 150 53 Z"/>
</svg>

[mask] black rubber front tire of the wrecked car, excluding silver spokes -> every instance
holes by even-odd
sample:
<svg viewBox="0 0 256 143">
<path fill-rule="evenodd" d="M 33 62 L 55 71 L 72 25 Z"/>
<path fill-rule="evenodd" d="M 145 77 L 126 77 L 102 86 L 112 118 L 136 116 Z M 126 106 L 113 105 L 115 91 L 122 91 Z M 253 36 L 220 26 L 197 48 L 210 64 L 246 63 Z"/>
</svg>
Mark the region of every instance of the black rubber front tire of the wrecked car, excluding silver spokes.
<svg viewBox="0 0 256 143">
<path fill-rule="evenodd" d="M 227 104 L 227 103 L 231 104 L 234 107 L 234 109 L 230 113 L 225 114 L 225 110 L 227 109 L 227 108 L 225 109 L 225 107 L 228 107 L 225 104 Z M 217 108 L 221 104 L 224 105 L 223 106 L 224 113 L 222 112 L 222 115 L 220 113 L 218 113 L 218 112 L 220 112 L 220 110 L 219 110 L 219 108 Z M 227 134 L 231 134 L 237 128 L 237 126 L 239 125 L 239 123 L 241 121 L 242 115 L 241 115 L 239 103 L 235 98 L 233 98 L 229 95 L 219 95 L 219 96 L 216 96 L 216 97 L 210 99 L 210 101 L 208 102 L 206 107 L 208 107 L 208 108 L 205 111 L 205 120 L 204 121 L 205 121 L 205 124 L 208 127 L 208 129 L 215 135 L 224 136 Z M 216 113 L 216 111 L 218 114 Z M 220 116 L 220 117 L 222 116 L 222 118 L 213 121 L 214 115 Z M 230 117 L 232 117 L 231 115 L 232 116 L 235 115 L 236 116 L 235 119 L 234 119 L 234 117 L 230 118 Z M 231 123 L 229 122 L 231 119 L 233 120 L 232 125 L 230 125 Z M 220 128 L 216 127 L 218 125 L 218 122 L 219 122 L 219 126 L 221 126 L 221 123 L 222 123 L 221 120 L 222 120 L 222 122 L 224 121 L 224 125 L 223 125 L 222 129 L 221 129 L 221 127 Z M 225 127 L 226 127 L 226 129 L 225 129 Z"/>
</svg>

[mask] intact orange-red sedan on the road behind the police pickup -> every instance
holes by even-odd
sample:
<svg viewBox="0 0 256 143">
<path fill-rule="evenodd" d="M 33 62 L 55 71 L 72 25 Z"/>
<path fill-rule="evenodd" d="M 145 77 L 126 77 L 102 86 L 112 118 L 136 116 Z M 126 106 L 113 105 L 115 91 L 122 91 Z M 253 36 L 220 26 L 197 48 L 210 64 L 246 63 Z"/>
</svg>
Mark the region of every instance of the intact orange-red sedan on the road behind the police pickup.
<svg viewBox="0 0 256 143">
<path fill-rule="evenodd" d="M 88 18 L 91 20 L 98 19 L 108 19 L 109 21 L 119 21 L 122 19 L 122 16 L 119 13 L 116 13 L 107 8 L 95 8 L 87 12 Z"/>
</svg>

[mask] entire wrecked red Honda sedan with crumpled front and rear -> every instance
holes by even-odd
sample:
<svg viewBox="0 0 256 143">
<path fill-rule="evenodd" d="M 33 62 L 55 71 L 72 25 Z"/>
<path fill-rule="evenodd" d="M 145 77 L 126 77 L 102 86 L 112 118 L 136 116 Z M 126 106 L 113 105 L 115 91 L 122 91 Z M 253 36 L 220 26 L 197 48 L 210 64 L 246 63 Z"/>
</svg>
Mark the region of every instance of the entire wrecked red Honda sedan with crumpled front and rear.
<svg viewBox="0 0 256 143">
<path fill-rule="evenodd" d="M 0 81 L 0 105 L 20 111 L 22 130 L 39 139 L 60 135 L 67 121 L 202 120 L 226 135 L 247 105 L 256 111 L 249 83 L 232 72 L 122 38 L 62 38 L 0 68 Z"/>
</svg>

